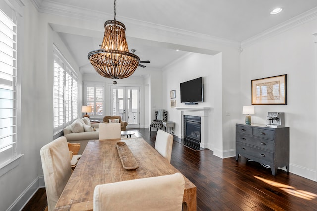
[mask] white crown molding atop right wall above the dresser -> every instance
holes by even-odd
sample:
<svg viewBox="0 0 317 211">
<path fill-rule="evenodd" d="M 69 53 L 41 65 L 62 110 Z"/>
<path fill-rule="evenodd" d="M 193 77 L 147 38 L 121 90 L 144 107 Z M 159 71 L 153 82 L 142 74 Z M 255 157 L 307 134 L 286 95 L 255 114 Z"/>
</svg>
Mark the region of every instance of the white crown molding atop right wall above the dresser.
<svg viewBox="0 0 317 211">
<path fill-rule="evenodd" d="M 303 23 L 306 23 L 306 22 L 309 22 L 313 19 L 315 19 L 317 17 L 317 7 L 307 11 L 307 12 L 304 12 L 294 18 L 291 18 L 281 24 L 278 24 L 268 30 L 265 30 L 264 32 L 260 33 L 260 34 L 257 34 L 251 38 L 248 38 L 244 41 L 241 42 L 241 47 L 244 48 L 244 47 L 247 47 L 249 45 L 252 45 L 256 42 L 259 42 L 260 40 L 264 40 L 264 39 L 267 39 L 269 37 L 272 37 L 272 36 L 275 36 L 277 34 L 280 34 L 282 32 L 285 32 L 287 30 L 290 30 L 300 24 L 303 24 Z"/>
</svg>

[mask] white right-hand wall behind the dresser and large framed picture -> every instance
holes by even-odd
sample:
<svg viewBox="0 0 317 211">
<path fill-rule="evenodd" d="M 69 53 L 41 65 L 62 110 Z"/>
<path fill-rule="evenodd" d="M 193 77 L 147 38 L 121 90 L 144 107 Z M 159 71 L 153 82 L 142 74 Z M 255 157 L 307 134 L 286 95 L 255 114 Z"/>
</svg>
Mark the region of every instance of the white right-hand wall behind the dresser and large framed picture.
<svg viewBox="0 0 317 211">
<path fill-rule="evenodd" d="M 287 74 L 287 105 L 255 105 L 254 123 L 268 111 L 285 112 L 290 127 L 290 172 L 317 181 L 317 19 L 243 47 L 241 110 L 251 104 L 252 79 Z M 242 119 L 243 117 L 241 117 Z"/>
</svg>

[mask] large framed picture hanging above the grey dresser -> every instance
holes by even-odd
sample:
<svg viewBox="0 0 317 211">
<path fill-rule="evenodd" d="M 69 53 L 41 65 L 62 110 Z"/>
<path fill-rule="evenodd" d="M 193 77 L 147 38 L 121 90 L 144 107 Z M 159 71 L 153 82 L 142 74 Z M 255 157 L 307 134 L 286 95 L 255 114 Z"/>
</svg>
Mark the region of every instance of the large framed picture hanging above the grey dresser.
<svg viewBox="0 0 317 211">
<path fill-rule="evenodd" d="M 287 105 L 287 74 L 251 80 L 252 105 Z"/>
</svg>

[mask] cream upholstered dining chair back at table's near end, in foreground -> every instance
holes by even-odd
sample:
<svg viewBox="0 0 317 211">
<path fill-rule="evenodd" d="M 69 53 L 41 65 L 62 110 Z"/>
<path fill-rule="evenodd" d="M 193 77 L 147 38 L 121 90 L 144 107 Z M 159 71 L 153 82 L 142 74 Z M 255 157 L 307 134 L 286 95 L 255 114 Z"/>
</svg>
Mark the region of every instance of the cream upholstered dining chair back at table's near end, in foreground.
<svg viewBox="0 0 317 211">
<path fill-rule="evenodd" d="M 184 185 L 181 173 L 97 185 L 94 211 L 181 211 Z"/>
</svg>

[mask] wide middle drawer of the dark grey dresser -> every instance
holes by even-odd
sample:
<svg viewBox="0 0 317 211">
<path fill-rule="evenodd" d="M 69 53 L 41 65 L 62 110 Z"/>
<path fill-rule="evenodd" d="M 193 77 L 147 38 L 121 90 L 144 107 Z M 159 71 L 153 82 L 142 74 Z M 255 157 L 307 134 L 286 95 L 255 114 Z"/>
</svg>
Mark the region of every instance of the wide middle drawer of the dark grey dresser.
<svg viewBox="0 0 317 211">
<path fill-rule="evenodd" d="M 264 138 L 257 138 L 245 134 L 236 133 L 236 141 L 242 144 L 249 144 L 255 147 L 260 147 L 264 150 L 274 151 L 275 142 Z"/>
</svg>

